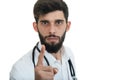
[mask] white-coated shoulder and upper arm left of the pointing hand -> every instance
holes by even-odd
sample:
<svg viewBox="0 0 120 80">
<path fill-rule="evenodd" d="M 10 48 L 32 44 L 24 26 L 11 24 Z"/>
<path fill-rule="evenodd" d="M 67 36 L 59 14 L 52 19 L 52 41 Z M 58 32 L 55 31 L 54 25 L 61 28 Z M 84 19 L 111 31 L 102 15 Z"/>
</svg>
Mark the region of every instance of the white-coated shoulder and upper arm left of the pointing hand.
<svg viewBox="0 0 120 80">
<path fill-rule="evenodd" d="M 32 73 L 34 69 L 32 64 L 32 51 L 29 51 L 22 58 L 20 58 L 12 67 L 10 72 L 10 78 L 15 80 L 20 80 L 27 78 L 27 75 L 34 75 Z"/>
</svg>

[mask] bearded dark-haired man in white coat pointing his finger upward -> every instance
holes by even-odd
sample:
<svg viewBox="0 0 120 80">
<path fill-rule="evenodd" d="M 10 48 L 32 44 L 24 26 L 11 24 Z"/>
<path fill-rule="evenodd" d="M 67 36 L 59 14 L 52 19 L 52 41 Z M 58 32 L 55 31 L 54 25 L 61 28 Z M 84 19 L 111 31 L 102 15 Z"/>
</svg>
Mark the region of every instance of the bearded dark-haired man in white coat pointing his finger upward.
<svg viewBox="0 0 120 80">
<path fill-rule="evenodd" d="M 63 46 L 71 24 L 66 3 L 38 0 L 33 12 L 40 42 L 14 64 L 10 80 L 76 80 L 72 52 Z"/>
</svg>

